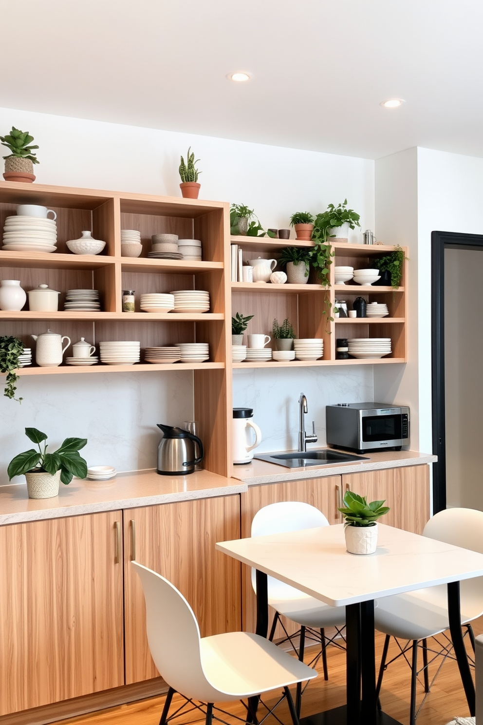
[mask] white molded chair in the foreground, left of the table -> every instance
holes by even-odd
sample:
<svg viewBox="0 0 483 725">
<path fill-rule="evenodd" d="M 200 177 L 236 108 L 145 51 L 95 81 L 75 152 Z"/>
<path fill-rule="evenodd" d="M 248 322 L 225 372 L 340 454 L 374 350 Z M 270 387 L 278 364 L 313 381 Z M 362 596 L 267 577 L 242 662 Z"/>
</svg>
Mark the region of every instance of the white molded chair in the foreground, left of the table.
<svg viewBox="0 0 483 725">
<path fill-rule="evenodd" d="M 298 725 L 288 687 L 313 679 L 314 670 L 256 634 L 229 632 L 201 638 L 193 610 L 176 587 L 146 566 L 131 563 L 146 600 L 151 656 L 169 684 L 160 725 L 166 722 L 175 692 L 206 703 L 206 725 L 210 725 L 215 702 L 256 698 L 278 688 L 287 697 L 293 725 Z M 254 714 L 249 705 L 248 721 L 254 721 Z"/>
</svg>

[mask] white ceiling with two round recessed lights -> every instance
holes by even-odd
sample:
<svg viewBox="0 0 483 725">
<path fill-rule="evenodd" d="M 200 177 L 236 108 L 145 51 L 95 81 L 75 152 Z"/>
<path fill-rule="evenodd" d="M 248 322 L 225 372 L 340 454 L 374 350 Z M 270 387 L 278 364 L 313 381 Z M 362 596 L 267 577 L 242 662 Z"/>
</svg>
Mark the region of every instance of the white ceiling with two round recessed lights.
<svg viewBox="0 0 483 725">
<path fill-rule="evenodd" d="M 0 12 L 4 107 L 368 158 L 483 156 L 481 0 L 0 0 Z M 233 83 L 235 70 L 253 77 Z M 379 106 L 394 97 L 406 103 Z"/>
</svg>

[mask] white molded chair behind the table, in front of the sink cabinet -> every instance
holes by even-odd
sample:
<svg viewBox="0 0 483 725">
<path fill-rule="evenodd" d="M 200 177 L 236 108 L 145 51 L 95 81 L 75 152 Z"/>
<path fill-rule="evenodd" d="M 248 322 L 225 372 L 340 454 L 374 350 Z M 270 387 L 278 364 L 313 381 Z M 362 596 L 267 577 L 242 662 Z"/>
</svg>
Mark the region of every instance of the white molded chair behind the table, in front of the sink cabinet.
<svg viewBox="0 0 483 725">
<path fill-rule="evenodd" d="M 269 534 L 281 534 L 284 531 L 300 531 L 301 529 L 315 529 L 319 526 L 329 526 L 327 518 L 315 506 L 300 501 L 281 501 L 264 506 L 253 516 L 251 523 L 251 536 L 261 537 Z M 256 592 L 256 570 L 251 570 L 251 583 Z M 318 599 L 306 595 L 300 589 L 290 587 L 283 581 L 268 577 L 268 600 L 269 605 L 274 608 L 275 616 L 269 639 L 274 637 L 277 621 L 280 615 L 295 622 L 301 627 L 300 645 L 298 648 L 299 659 L 303 660 L 303 653 L 306 639 L 306 629 L 317 629 L 320 631 L 320 642 L 322 645 L 322 663 L 324 666 L 324 679 L 329 679 L 327 671 L 327 641 L 325 627 L 335 627 L 337 633 L 345 626 L 345 607 L 331 607 Z M 287 635 L 287 639 L 290 637 Z M 285 640 L 284 640 L 285 641 Z M 319 659 L 317 656 L 316 660 Z M 315 660 L 315 661 L 316 661 Z M 301 686 L 297 688 L 296 708 L 300 715 Z"/>
</svg>

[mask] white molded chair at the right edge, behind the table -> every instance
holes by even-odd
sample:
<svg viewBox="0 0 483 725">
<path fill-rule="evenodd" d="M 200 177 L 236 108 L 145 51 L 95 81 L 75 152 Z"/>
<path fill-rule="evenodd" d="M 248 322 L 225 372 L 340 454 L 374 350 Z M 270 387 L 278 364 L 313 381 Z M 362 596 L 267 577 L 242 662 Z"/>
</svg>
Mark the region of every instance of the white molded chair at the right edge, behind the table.
<svg viewBox="0 0 483 725">
<path fill-rule="evenodd" d="M 483 554 L 483 511 L 471 508 L 448 508 L 429 519 L 423 531 L 424 537 L 453 544 Z M 474 634 L 471 621 L 483 614 L 483 577 L 466 579 L 460 583 L 461 624 L 466 625 L 473 650 Z M 376 629 L 386 634 L 382 653 L 377 694 L 382 684 L 382 676 L 386 668 L 387 648 L 390 637 L 411 642 L 412 678 L 411 678 L 411 716 L 410 723 L 416 721 L 416 675 L 418 642 L 422 640 L 424 692 L 429 692 L 427 638 L 436 637 L 449 629 L 448 588 L 446 584 L 416 592 L 384 597 L 377 600 L 374 610 Z M 403 647 L 406 653 L 409 645 Z M 445 657 L 450 653 L 451 645 L 443 648 Z M 400 656 L 400 655 L 398 655 Z M 439 669 L 438 669 L 439 672 Z M 434 679 L 433 679 L 434 682 Z M 424 700 L 423 700 L 424 703 Z M 422 705 L 422 703 L 421 703 Z M 421 710 L 421 706 L 419 708 Z"/>
</svg>

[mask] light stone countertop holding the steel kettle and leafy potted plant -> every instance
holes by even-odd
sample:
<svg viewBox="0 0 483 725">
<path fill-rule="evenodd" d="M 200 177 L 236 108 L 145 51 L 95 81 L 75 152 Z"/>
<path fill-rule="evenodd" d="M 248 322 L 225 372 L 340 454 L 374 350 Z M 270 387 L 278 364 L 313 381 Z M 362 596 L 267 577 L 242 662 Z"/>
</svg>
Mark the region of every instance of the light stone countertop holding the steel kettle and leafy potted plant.
<svg viewBox="0 0 483 725">
<path fill-rule="evenodd" d="M 239 494 L 246 484 L 209 471 L 189 476 L 159 476 L 156 471 L 118 473 L 110 481 L 80 481 L 60 484 L 59 495 L 29 499 L 27 484 L 0 486 L 0 526 L 46 518 L 78 516 L 99 511 L 154 506 Z"/>
</svg>

